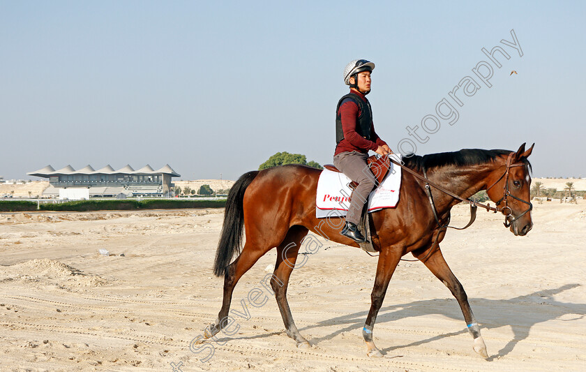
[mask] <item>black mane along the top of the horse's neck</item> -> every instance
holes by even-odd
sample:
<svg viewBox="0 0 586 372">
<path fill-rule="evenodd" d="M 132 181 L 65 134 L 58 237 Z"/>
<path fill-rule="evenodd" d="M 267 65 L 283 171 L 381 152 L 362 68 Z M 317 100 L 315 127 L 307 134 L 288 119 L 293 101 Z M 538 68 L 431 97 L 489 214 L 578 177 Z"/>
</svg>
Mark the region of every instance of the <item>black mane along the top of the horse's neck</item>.
<svg viewBox="0 0 586 372">
<path fill-rule="evenodd" d="M 460 151 L 423 156 L 415 154 L 407 155 L 403 157 L 403 163 L 412 170 L 423 171 L 423 168 L 429 170 L 446 165 L 464 166 L 486 164 L 490 161 L 495 161 L 497 156 L 509 154 L 511 154 L 509 150 L 462 149 Z M 523 158 L 523 163 L 527 163 L 529 168 L 531 167 L 526 158 Z"/>
</svg>

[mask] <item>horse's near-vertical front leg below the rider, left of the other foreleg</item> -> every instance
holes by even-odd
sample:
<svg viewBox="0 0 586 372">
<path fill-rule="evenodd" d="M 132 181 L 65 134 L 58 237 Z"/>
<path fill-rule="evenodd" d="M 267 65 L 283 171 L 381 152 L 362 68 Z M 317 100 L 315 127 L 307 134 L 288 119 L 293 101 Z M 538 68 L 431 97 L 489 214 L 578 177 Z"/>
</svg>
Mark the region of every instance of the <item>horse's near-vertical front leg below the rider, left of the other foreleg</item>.
<svg viewBox="0 0 586 372">
<path fill-rule="evenodd" d="M 375 286 L 370 294 L 370 311 L 368 311 L 368 317 L 362 329 L 362 336 L 367 348 L 366 355 L 369 357 L 382 357 L 382 353 L 373 341 L 373 328 L 386 294 L 386 288 L 389 287 L 389 281 L 391 281 L 391 276 L 393 276 L 400 258 L 400 250 L 393 250 L 391 247 L 383 248 L 379 256 Z"/>
</svg>

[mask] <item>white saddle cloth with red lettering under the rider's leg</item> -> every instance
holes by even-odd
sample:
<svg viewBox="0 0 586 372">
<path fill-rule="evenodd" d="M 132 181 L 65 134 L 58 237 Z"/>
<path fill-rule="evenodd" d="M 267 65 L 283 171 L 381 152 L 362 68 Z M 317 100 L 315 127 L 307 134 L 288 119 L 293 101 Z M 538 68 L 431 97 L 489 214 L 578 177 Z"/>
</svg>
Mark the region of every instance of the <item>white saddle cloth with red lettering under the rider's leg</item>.
<svg viewBox="0 0 586 372">
<path fill-rule="evenodd" d="M 400 154 L 392 154 L 391 157 L 397 162 L 401 160 Z M 352 193 L 352 189 L 348 186 L 350 182 L 352 180 L 341 172 L 323 170 L 317 181 L 315 200 L 315 216 L 317 218 L 346 216 L 350 207 L 348 197 Z M 391 163 L 391 168 L 380 186 L 368 195 L 368 212 L 396 207 L 399 201 L 400 186 L 401 168 Z"/>
</svg>

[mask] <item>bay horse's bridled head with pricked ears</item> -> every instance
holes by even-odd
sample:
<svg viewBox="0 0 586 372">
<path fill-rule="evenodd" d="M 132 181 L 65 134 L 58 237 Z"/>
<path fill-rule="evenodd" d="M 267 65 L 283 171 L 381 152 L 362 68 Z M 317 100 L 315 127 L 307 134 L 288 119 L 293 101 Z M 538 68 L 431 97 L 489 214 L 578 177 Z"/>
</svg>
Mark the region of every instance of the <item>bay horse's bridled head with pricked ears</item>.
<svg viewBox="0 0 586 372">
<path fill-rule="evenodd" d="M 506 216 L 504 225 L 510 226 L 515 235 L 527 235 L 533 227 L 531 220 L 531 177 L 529 176 L 529 161 L 535 144 L 525 150 L 522 144 L 517 152 L 502 156 L 499 165 L 487 179 L 488 198 L 497 204 L 497 208 Z"/>
</svg>

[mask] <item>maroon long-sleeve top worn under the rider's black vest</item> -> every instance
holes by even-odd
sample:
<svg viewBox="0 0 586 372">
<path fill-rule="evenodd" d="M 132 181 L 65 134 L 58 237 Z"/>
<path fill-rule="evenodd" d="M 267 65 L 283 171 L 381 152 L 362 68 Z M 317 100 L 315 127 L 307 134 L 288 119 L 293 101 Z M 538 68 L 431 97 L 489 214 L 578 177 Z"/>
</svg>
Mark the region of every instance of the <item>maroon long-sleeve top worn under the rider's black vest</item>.
<svg viewBox="0 0 586 372">
<path fill-rule="evenodd" d="M 359 91 L 352 89 L 352 93 L 356 94 L 366 103 L 366 97 Z M 342 119 L 342 131 L 344 132 L 344 139 L 338 142 L 334 155 L 340 154 L 344 151 L 360 151 L 363 154 L 368 153 L 368 150 L 376 151 L 379 146 L 386 144 L 375 132 L 375 125 L 370 121 L 370 140 L 362 137 L 356 132 L 358 125 L 359 112 L 358 105 L 351 99 L 340 105 L 340 117 Z"/>
</svg>

